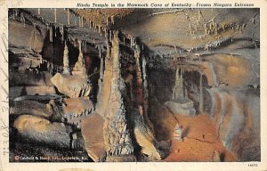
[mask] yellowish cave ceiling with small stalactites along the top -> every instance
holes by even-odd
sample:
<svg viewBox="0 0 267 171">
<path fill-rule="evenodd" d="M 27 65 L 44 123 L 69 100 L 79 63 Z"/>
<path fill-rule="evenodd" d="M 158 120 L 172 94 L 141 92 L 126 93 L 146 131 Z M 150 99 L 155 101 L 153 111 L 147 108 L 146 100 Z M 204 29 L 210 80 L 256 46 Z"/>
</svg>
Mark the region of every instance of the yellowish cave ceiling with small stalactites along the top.
<svg viewBox="0 0 267 171">
<path fill-rule="evenodd" d="M 27 10 L 37 15 L 36 9 Z M 193 49 L 201 52 L 206 45 L 216 41 L 222 43 L 230 38 L 259 41 L 257 9 L 73 9 L 71 12 L 79 14 L 85 21 L 82 28 L 77 27 L 80 19 L 70 15 L 70 37 L 101 45 L 105 42 L 104 35 L 90 29 L 89 21 L 102 29 L 120 29 L 158 53 Z M 53 10 L 42 9 L 39 16 L 53 22 L 53 15 Z M 57 15 L 59 26 L 68 24 L 67 10 L 58 9 Z M 210 28 L 212 23 L 218 27 L 216 31 Z"/>
</svg>

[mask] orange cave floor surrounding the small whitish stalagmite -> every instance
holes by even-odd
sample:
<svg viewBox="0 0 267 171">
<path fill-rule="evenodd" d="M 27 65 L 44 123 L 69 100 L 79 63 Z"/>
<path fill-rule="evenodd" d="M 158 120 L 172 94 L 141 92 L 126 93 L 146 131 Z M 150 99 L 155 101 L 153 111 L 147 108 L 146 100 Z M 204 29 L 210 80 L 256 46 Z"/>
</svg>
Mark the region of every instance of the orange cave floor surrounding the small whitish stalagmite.
<svg viewBox="0 0 267 171">
<path fill-rule="evenodd" d="M 221 161 L 237 161 L 237 158 L 223 146 L 217 138 L 216 128 L 206 114 L 196 117 L 173 115 L 165 107 L 156 114 L 155 131 L 157 139 L 171 139 L 170 153 L 163 161 L 204 162 L 214 161 L 214 151 L 218 151 Z M 182 142 L 174 140 L 172 134 L 174 126 L 179 122 L 182 126 L 184 139 Z"/>
</svg>

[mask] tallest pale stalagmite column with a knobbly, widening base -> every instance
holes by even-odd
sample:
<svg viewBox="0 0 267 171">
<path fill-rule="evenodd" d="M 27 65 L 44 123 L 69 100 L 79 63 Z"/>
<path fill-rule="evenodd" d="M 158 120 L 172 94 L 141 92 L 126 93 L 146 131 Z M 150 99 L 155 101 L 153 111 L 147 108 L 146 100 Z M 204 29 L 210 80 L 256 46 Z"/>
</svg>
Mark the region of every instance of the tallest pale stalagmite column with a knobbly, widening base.
<svg viewBox="0 0 267 171">
<path fill-rule="evenodd" d="M 106 118 L 103 126 L 104 142 L 107 157 L 117 155 L 132 155 L 134 147 L 125 118 L 125 84 L 120 75 L 119 40 L 115 33 L 112 40 L 112 78 L 109 103 L 105 111 Z M 104 80 L 105 81 L 105 80 Z M 110 159 L 110 158 L 109 158 Z"/>
</svg>

